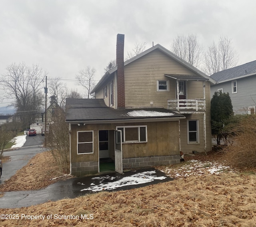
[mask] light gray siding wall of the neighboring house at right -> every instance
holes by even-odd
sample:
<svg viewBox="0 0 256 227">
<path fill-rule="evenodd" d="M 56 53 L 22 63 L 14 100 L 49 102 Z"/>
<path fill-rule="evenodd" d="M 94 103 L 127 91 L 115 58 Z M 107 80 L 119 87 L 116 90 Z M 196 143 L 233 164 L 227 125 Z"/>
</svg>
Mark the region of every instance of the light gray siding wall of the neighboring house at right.
<svg viewBox="0 0 256 227">
<path fill-rule="evenodd" d="M 236 83 L 237 93 L 234 94 L 232 94 L 232 81 L 211 86 L 211 98 L 214 92 L 223 88 L 224 93 L 229 93 L 234 114 L 247 114 L 248 107 L 256 106 L 256 75 L 238 79 Z"/>
</svg>

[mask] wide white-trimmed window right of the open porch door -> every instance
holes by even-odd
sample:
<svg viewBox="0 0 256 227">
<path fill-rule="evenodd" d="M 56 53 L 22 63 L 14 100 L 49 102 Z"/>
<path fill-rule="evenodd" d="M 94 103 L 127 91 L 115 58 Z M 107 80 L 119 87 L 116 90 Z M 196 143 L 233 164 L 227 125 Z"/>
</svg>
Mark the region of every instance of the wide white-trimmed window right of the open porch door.
<svg viewBox="0 0 256 227">
<path fill-rule="evenodd" d="M 146 143 L 148 141 L 147 126 L 117 126 L 122 131 L 122 143 Z"/>
</svg>

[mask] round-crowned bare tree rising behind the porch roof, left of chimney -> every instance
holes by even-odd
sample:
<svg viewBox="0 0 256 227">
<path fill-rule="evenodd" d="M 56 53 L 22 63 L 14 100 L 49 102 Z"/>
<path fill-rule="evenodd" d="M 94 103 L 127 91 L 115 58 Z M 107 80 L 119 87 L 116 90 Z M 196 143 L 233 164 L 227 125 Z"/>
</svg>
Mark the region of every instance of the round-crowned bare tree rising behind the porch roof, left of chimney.
<svg viewBox="0 0 256 227">
<path fill-rule="evenodd" d="M 94 75 L 96 69 L 94 67 L 87 66 L 85 69 L 82 69 L 76 75 L 77 84 L 86 89 L 86 97 L 93 98 L 90 96 L 90 92 L 95 86 Z"/>
</svg>

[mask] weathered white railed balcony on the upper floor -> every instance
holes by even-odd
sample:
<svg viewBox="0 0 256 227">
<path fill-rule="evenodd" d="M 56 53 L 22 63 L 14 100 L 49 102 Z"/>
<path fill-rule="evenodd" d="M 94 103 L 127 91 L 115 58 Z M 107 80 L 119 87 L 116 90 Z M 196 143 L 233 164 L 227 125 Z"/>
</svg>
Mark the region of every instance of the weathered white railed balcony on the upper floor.
<svg viewBox="0 0 256 227">
<path fill-rule="evenodd" d="M 178 112 L 194 112 L 205 111 L 204 99 L 179 99 L 179 100 L 167 100 L 168 110 L 174 110 Z"/>
</svg>

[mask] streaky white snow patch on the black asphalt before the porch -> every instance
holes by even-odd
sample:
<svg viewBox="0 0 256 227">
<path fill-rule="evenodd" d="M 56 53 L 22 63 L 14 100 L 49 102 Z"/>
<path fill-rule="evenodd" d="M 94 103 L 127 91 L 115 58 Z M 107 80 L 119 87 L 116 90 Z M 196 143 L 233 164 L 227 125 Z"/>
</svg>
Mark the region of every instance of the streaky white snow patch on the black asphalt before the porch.
<svg viewBox="0 0 256 227">
<path fill-rule="evenodd" d="M 92 179 L 97 179 L 100 180 L 100 184 L 95 185 L 94 183 L 91 183 L 91 186 L 88 188 L 84 188 L 80 191 L 86 191 L 86 190 L 91 190 L 91 191 L 102 191 L 102 190 L 113 190 L 118 187 L 124 187 L 127 185 L 138 185 L 138 184 L 144 184 L 148 182 L 152 182 L 154 180 L 163 180 L 166 179 L 167 177 L 157 177 L 156 171 L 144 171 L 142 173 L 136 173 L 133 175 L 130 175 L 128 177 L 123 177 L 120 180 L 117 181 L 112 181 L 112 182 L 106 182 L 103 183 L 104 180 L 108 179 L 114 180 L 116 177 L 110 177 L 110 176 L 104 176 L 104 177 L 94 177 Z M 82 184 L 83 185 L 83 184 Z"/>
</svg>

